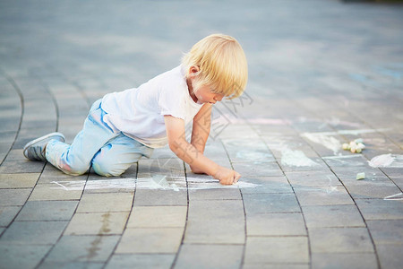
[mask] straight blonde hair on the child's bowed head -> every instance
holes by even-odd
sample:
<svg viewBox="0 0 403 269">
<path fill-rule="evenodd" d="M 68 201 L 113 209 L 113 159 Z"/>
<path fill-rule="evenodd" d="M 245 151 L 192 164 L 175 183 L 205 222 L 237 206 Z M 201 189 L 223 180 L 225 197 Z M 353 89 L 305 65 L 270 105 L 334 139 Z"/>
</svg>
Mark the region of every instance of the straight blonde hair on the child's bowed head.
<svg viewBox="0 0 403 269">
<path fill-rule="evenodd" d="M 196 75 L 194 90 L 201 85 L 210 85 L 212 92 L 223 94 L 230 99 L 244 92 L 248 80 L 248 66 L 244 49 L 233 37 L 212 34 L 194 44 L 182 58 L 186 78 Z M 189 74 L 192 66 L 199 72 Z"/>
</svg>

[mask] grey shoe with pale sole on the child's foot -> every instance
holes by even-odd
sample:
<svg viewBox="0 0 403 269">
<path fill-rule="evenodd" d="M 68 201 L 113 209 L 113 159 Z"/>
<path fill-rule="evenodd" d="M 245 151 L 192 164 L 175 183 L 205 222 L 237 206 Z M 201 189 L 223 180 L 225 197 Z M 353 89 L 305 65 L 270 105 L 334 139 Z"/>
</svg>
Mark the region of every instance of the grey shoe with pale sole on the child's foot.
<svg viewBox="0 0 403 269">
<path fill-rule="evenodd" d="M 60 142 L 64 142 L 64 135 L 61 133 L 51 133 L 32 140 L 24 146 L 24 156 L 31 161 L 47 161 L 45 150 L 47 143 L 56 139 Z"/>
</svg>

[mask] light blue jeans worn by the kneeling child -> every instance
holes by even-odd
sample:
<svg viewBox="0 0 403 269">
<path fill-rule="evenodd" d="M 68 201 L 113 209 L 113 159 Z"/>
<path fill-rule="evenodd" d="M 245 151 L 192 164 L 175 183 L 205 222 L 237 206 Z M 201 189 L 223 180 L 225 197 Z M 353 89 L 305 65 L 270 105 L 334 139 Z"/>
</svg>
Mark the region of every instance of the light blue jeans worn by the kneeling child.
<svg viewBox="0 0 403 269">
<path fill-rule="evenodd" d="M 47 143 L 47 161 L 64 173 L 78 176 L 92 169 L 100 176 L 119 176 L 141 156 L 150 158 L 153 149 L 134 139 L 114 132 L 103 121 L 107 114 L 97 100 L 90 108 L 84 126 L 67 144 L 56 140 Z"/>
</svg>

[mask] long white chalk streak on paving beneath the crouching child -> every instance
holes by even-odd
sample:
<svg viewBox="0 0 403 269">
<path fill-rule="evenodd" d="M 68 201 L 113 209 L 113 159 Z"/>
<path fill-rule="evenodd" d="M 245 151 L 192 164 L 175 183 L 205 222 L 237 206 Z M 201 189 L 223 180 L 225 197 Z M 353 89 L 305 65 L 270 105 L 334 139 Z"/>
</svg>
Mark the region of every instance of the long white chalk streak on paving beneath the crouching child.
<svg viewBox="0 0 403 269">
<path fill-rule="evenodd" d="M 184 177 L 167 177 L 165 175 L 155 175 L 151 178 L 116 178 L 88 180 L 87 183 L 80 181 L 52 181 L 55 184 L 54 189 L 64 189 L 65 191 L 82 190 L 101 190 L 101 189 L 163 189 L 163 190 L 201 190 L 213 188 L 245 188 L 259 187 L 260 185 L 238 181 L 234 185 L 221 185 L 219 181 L 210 177 L 193 178 L 187 177 L 189 187 L 186 187 Z"/>
</svg>

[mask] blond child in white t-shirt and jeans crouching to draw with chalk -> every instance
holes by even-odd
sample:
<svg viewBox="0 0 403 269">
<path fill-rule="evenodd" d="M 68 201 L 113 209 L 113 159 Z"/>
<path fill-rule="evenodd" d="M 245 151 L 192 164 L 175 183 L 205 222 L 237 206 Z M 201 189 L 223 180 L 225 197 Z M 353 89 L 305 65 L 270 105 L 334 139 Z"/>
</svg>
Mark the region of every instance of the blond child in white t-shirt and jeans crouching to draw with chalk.
<svg viewBox="0 0 403 269">
<path fill-rule="evenodd" d="M 110 177 L 168 143 L 193 173 L 231 185 L 241 176 L 203 155 L 210 134 L 210 120 L 205 119 L 217 101 L 241 95 L 246 82 L 247 62 L 236 39 L 210 35 L 197 42 L 176 68 L 139 88 L 97 100 L 71 145 L 64 143 L 63 134 L 52 133 L 27 143 L 23 153 L 29 160 L 49 161 L 66 174 L 81 175 L 92 165 L 97 174 Z M 184 126 L 192 120 L 188 143 Z"/>
</svg>

